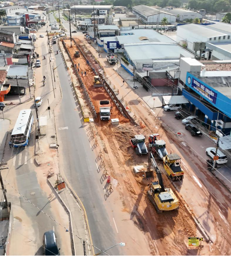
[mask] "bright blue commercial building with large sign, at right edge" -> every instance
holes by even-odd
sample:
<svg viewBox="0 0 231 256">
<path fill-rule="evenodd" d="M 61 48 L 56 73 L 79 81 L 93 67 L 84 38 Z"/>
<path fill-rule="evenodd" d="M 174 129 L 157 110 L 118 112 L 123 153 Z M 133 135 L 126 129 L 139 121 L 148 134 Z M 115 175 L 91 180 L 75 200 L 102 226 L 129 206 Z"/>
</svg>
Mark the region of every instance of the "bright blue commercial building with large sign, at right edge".
<svg viewBox="0 0 231 256">
<path fill-rule="evenodd" d="M 188 109 L 210 130 L 231 134 L 231 61 L 181 58 L 180 89 Z"/>
</svg>

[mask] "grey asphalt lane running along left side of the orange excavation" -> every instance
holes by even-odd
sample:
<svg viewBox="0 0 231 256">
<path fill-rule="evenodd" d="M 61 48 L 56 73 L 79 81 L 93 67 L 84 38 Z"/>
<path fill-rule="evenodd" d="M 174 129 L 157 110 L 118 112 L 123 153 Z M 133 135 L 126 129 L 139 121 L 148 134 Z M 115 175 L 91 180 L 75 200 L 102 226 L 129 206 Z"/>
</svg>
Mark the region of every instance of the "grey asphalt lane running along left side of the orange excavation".
<svg viewBox="0 0 231 256">
<path fill-rule="evenodd" d="M 51 22 L 54 22 L 52 15 Z M 57 45 L 52 47 L 57 50 Z M 55 110 L 61 168 L 65 167 L 66 178 L 85 206 L 93 244 L 100 249 L 107 249 L 121 241 L 115 238 L 113 220 L 109 220 L 104 206 L 104 190 L 97 176 L 95 156 L 82 125 L 80 107 L 74 99 L 75 94 L 60 54 L 56 55 L 56 64 L 63 94 Z M 61 127 L 68 129 L 59 130 Z M 118 248 L 114 247 L 108 253 L 121 255 Z M 95 249 L 95 253 L 98 252 Z"/>
</svg>

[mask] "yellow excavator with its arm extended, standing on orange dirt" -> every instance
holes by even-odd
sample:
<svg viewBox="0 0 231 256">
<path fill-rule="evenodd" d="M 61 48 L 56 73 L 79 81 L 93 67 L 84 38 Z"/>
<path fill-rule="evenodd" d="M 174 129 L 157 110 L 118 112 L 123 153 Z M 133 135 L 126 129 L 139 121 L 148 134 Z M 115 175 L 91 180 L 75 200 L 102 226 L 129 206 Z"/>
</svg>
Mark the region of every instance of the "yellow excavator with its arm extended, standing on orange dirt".
<svg viewBox="0 0 231 256">
<path fill-rule="evenodd" d="M 151 169 L 151 164 L 156 171 L 158 181 L 153 181 L 149 184 L 147 191 L 148 199 L 155 206 L 157 213 L 163 211 L 172 211 L 179 208 L 179 201 L 171 188 L 166 188 L 163 183 L 163 178 L 159 167 L 151 152 L 148 152 L 148 169 Z"/>
</svg>

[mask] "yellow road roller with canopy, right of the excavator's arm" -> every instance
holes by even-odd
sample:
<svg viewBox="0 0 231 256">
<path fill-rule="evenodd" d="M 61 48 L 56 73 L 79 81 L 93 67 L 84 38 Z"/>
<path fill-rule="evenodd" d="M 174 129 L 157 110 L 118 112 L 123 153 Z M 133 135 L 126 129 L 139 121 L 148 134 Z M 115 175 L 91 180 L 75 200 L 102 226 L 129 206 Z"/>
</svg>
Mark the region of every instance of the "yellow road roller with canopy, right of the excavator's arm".
<svg viewBox="0 0 231 256">
<path fill-rule="evenodd" d="M 171 180 L 182 180 L 184 171 L 181 170 L 181 158 L 178 154 L 168 154 L 163 158 L 164 168 Z"/>
</svg>

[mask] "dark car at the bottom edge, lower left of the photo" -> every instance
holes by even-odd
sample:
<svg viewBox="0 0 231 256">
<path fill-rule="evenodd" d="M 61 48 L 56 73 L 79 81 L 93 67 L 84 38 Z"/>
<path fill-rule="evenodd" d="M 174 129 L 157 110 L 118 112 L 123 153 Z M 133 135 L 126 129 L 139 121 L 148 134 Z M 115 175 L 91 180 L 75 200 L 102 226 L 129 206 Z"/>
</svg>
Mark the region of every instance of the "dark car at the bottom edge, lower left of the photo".
<svg viewBox="0 0 231 256">
<path fill-rule="evenodd" d="M 56 233 L 53 230 L 47 231 L 43 235 L 44 255 L 60 255 Z"/>
</svg>

